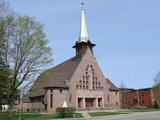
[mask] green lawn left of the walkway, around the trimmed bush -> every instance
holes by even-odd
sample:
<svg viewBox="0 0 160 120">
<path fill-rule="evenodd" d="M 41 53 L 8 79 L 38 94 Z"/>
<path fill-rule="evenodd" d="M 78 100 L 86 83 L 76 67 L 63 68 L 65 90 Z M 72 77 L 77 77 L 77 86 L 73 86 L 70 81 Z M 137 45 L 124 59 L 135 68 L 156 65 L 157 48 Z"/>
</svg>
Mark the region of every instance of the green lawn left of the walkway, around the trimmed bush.
<svg viewBox="0 0 160 120">
<path fill-rule="evenodd" d="M 19 113 L 14 113 L 13 120 L 18 120 Z M 40 113 L 22 113 L 21 120 L 48 120 L 58 119 L 56 114 L 40 114 Z M 75 113 L 74 118 L 82 118 L 81 113 Z M 0 120 L 8 120 L 8 114 L 6 112 L 0 113 Z"/>
</svg>

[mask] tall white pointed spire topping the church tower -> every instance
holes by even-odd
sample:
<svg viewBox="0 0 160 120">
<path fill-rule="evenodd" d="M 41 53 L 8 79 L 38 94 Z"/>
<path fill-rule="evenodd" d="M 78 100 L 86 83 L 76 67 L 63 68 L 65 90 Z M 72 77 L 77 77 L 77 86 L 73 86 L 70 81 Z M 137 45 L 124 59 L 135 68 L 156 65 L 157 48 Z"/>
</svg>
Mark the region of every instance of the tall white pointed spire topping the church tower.
<svg viewBox="0 0 160 120">
<path fill-rule="evenodd" d="M 85 13 L 84 13 L 84 3 L 81 3 L 82 9 L 81 9 L 81 26 L 80 26 L 80 36 L 79 36 L 79 42 L 88 42 L 88 32 L 87 32 L 87 26 L 86 26 L 86 19 L 85 19 Z"/>
</svg>

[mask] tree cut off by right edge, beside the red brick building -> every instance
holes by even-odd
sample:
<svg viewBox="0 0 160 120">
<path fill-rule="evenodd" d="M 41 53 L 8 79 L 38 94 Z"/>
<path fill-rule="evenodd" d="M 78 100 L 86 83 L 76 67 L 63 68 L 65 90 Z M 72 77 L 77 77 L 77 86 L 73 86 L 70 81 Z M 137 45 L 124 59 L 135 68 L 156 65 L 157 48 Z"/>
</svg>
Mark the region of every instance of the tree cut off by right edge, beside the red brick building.
<svg viewBox="0 0 160 120">
<path fill-rule="evenodd" d="M 160 72 L 158 72 L 156 77 L 154 78 L 153 94 L 156 103 L 160 107 Z"/>
</svg>

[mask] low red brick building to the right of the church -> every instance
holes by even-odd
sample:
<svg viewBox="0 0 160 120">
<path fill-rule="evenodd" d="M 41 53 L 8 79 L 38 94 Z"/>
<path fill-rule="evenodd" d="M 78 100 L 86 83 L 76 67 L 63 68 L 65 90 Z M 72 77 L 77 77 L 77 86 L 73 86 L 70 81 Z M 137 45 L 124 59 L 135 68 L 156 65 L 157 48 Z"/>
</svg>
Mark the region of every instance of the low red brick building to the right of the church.
<svg viewBox="0 0 160 120">
<path fill-rule="evenodd" d="M 137 106 L 154 107 L 155 100 L 152 88 L 145 89 L 121 89 L 120 101 L 122 108 L 132 108 Z"/>
</svg>

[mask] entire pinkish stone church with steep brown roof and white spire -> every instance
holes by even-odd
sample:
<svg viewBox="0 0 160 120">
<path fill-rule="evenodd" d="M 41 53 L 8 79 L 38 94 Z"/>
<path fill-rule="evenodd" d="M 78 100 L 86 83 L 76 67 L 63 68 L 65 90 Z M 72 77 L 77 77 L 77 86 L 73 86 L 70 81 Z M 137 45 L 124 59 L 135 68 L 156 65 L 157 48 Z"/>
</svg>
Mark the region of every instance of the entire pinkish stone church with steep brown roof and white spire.
<svg viewBox="0 0 160 120">
<path fill-rule="evenodd" d="M 54 112 L 64 103 L 76 110 L 119 107 L 119 89 L 105 78 L 94 56 L 96 44 L 89 39 L 84 9 L 80 24 L 75 55 L 37 78 L 26 100 L 27 111 Z"/>
</svg>

